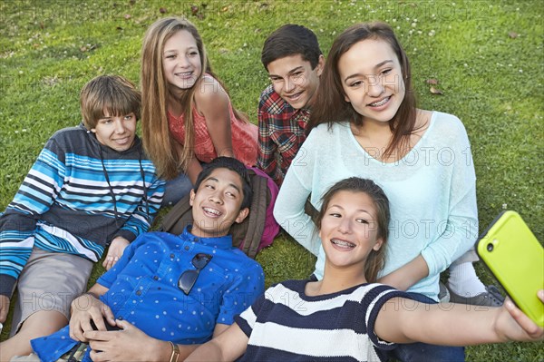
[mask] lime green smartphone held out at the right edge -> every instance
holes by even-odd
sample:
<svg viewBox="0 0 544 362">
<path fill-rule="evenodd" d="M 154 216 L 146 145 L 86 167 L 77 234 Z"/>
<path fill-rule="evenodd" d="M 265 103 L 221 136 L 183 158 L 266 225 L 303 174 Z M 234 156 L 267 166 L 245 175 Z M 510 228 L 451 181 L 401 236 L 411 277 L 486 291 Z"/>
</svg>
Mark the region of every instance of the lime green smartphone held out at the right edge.
<svg viewBox="0 0 544 362">
<path fill-rule="evenodd" d="M 515 211 L 503 211 L 476 241 L 476 252 L 516 305 L 544 327 L 544 249 Z"/>
</svg>

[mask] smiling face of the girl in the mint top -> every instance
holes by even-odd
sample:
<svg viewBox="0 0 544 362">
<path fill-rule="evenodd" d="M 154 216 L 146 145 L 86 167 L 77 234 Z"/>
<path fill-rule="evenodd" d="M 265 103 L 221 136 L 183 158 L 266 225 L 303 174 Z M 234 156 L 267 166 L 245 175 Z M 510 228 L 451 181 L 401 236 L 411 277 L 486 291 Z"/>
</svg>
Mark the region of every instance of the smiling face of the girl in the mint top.
<svg viewBox="0 0 544 362">
<path fill-rule="evenodd" d="M 403 103 L 405 86 L 401 65 L 390 44 L 365 39 L 338 61 L 345 101 L 364 121 L 389 122 Z"/>
</svg>

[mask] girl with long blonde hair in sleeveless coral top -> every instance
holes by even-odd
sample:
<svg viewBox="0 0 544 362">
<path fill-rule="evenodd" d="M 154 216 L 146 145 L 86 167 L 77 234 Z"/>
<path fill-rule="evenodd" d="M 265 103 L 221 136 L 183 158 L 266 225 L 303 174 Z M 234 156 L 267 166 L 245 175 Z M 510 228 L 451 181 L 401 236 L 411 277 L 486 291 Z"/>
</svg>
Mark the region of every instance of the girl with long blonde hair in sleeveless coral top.
<svg viewBox="0 0 544 362">
<path fill-rule="evenodd" d="M 141 51 L 141 130 L 146 152 L 160 177 L 183 179 L 189 192 L 201 162 L 236 157 L 257 161 L 257 126 L 232 107 L 212 72 L 197 28 L 167 17 L 151 24 Z M 180 180 L 177 180 L 180 181 Z M 190 182 L 189 182 L 190 181 Z M 165 201 L 172 200 L 165 195 Z"/>
</svg>

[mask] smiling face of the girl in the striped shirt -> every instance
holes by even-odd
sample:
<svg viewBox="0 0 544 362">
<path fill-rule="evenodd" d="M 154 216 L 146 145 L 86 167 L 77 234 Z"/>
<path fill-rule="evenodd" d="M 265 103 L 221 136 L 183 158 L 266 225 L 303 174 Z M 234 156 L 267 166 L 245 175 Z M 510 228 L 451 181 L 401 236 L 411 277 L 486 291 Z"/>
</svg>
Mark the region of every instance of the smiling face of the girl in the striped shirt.
<svg viewBox="0 0 544 362">
<path fill-rule="evenodd" d="M 374 201 L 361 191 L 338 191 L 326 205 L 319 236 L 327 263 L 336 268 L 364 266 L 372 250 L 382 247 L 378 238 Z"/>
</svg>

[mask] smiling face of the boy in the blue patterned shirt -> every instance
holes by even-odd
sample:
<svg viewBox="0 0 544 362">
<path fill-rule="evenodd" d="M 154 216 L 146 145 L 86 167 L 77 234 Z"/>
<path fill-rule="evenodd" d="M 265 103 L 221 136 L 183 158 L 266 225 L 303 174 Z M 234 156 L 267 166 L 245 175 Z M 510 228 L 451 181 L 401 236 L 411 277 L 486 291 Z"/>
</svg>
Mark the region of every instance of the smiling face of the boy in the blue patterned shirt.
<svg viewBox="0 0 544 362">
<path fill-rule="evenodd" d="M 211 171 L 199 186 L 190 191 L 193 226 L 191 234 L 201 238 L 217 238 L 228 234 L 235 222 L 242 222 L 249 209 L 240 210 L 244 194 L 237 172 L 226 168 Z"/>
</svg>

